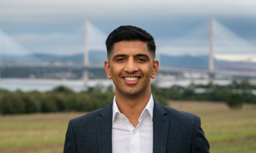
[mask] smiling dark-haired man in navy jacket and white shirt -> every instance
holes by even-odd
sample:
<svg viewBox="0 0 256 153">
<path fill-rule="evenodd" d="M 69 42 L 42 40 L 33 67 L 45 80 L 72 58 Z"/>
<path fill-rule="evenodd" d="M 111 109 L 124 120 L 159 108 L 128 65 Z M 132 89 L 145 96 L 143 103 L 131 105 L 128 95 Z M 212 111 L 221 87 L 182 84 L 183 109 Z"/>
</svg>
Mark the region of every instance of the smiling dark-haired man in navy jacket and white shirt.
<svg viewBox="0 0 256 153">
<path fill-rule="evenodd" d="M 69 121 L 64 153 L 209 153 L 200 118 L 162 106 L 151 95 L 150 79 L 159 68 L 154 38 L 120 26 L 106 46 L 114 100 Z"/>
</svg>

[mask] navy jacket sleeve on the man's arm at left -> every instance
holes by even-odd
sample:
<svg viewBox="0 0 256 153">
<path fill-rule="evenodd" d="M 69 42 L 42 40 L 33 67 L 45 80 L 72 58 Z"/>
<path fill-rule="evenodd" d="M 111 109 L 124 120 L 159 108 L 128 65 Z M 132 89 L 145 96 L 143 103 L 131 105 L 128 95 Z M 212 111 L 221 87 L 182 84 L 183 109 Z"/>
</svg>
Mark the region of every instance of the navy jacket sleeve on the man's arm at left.
<svg viewBox="0 0 256 153">
<path fill-rule="evenodd" d="M 66 139 L 63 153 L 76 153 L 76 140 L 73 133 L 72 120 L 69 121 L 68 130 L 66 131 Z"/>
</svg>

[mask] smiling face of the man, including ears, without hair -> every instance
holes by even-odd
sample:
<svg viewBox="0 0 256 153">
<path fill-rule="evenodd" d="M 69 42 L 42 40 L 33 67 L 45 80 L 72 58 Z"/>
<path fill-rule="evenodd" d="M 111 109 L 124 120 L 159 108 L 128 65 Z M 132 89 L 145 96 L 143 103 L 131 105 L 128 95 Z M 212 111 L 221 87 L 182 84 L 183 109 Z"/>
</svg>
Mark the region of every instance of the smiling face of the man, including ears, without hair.
<svg viewBox="0 0 256 153">
<path fill-rule="evenodd" d="M 135 96 L 151 93 L 150 78 L 156 77 L 159 63 L 149 53 L 147 42 L 121 41 L 114 44 L 104 66 L 115 84 L 116 95 Z"/>
</svg>

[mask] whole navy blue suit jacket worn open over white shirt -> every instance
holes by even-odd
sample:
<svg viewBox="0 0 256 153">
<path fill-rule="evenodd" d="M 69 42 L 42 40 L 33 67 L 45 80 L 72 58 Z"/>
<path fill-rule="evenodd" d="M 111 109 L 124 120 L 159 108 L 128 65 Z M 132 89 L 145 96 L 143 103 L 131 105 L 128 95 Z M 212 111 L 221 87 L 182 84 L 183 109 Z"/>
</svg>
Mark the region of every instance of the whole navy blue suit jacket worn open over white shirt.
<svg viewBox="0 0 256 153">
<path fill-rule="evenodd" d="M 64 153 L 111 153 L 112 105 L 71 119 Z M 209 153 L 198 116 L 157 102 L 153 109 L 152 147 L 153 153 Z"/>
</svg>

